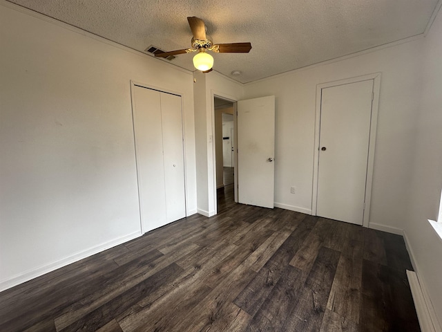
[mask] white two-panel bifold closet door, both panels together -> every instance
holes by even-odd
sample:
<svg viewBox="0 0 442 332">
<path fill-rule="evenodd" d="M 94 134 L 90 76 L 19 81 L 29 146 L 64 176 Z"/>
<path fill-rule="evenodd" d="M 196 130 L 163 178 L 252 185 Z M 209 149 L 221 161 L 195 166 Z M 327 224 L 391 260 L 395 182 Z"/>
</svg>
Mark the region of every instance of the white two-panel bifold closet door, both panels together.
<svg viewBox="0 0 442 332">
<path fill-rule="evenodd" d="M 142 231 L 186 216 L 181 97 L 133 86 Z"/>
</svg>

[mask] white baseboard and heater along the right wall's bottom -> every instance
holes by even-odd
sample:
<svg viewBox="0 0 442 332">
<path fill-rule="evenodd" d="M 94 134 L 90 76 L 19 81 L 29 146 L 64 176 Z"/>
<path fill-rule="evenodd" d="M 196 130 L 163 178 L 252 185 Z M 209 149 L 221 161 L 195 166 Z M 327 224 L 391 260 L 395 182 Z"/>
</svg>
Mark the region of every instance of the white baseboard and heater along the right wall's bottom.
<svg viewBox="0 0 442 332">
<path fill-rule="evenodd" d="M 434 311 L 433 304 L 430 299 L 430 295 L 428 295 L 427 287 L 425 286 L 425 282 L 422 278 L 419 277 L 419 266 L 417 265 L 417 261 L 414 258 L 413 248 L 412 246 L 410 246 L 410 241 L 408 240 L 407 232 L 405 232 L 405 230 L 403 231 L 403 239 L 405 241 L 405 247 L 407 248 L 408 255 L 410 256 L 410 261 L 412 262 L 414 271 L 416 271 L 416 278 L 412 276 L 411 282 L 409 271 L 407 271 L 407 276 L 410 282 L 410 288 L 412 289 L 414 306 L 416 307 L 416 313 L 419 318 L 421 330 L 422 332 L 442 332 L 441 324 L 439 324 L 439 320 L 437 319 L 436 312 Z M 418 285 L 416 285 L 416 281 Z M 414 284 L 412 285 L 412 283 Z M 415 298 L 415 296 L 417 297 L 417 299 Z"/>
</svg>

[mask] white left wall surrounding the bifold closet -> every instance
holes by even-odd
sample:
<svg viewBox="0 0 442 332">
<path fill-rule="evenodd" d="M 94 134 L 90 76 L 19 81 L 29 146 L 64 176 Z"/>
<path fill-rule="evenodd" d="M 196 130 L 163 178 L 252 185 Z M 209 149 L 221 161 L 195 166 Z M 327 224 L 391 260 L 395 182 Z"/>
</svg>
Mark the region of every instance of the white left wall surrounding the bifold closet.
<svg viewBox="0 0 442 332">
<path fill-rule="evenodd" d="M 195 213 L 192 73 L 0 5 L 0 290 L 140 234 L 130 80 L 182 94 Z"/>
</svg>

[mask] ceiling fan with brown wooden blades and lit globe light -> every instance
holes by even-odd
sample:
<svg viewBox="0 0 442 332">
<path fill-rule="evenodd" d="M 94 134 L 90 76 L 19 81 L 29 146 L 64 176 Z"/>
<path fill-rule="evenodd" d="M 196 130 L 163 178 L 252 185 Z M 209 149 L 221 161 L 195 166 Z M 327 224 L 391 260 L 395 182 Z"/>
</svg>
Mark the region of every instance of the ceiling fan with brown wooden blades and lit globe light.
<svg viewBox="0 0 442 332">
<path fill-rule="evenodd" d="M 193 65 L 198 70 L 209 73 L 212 71 L 213 57 L 207 53 L 211 50 L 215 53 L 249 53 L 251 50 L 250 43 L 230 43 L 230 44 L 213 44 L 209 36 L 206 36 L 206 25 L 202 19 L 198 17 L 187 17 L 189 26 L 192 30 L 191 48 L 183 50 L 172 50 L 171 52 L 155 53 L 155 57 L 169 57 L 169 55 L 178 55 L 184 53 L 192 53 L 198 51 L 193 57 Z"/>
</svg>

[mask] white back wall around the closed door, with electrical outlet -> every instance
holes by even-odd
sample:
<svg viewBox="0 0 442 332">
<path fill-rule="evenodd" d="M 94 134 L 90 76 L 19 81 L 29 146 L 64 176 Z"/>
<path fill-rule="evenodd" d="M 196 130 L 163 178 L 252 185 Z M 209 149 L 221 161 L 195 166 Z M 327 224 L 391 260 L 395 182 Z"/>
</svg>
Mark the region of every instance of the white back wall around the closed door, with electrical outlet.
<svg viewBox="0 0 442 332">
<path fill-rule="evenodd" d="M 370 225 L 401 232 L 406 216 L 422 39 L 311 66 L 244 86 L 244 98 L 276 96 L 276 206 L 311 212 L 316 85 L 381 72 Z M 296 194 L 290 186 L 296 186 Z"/>
</svg>

